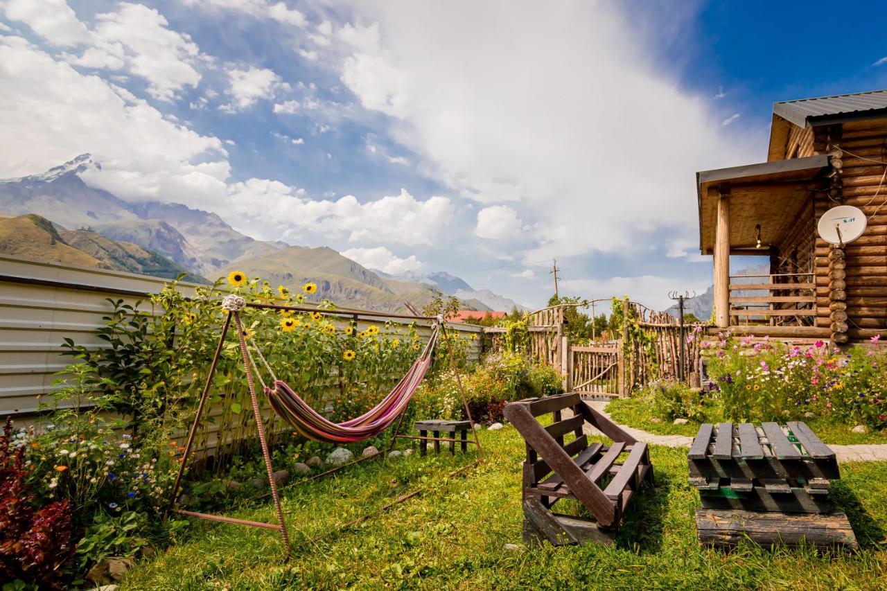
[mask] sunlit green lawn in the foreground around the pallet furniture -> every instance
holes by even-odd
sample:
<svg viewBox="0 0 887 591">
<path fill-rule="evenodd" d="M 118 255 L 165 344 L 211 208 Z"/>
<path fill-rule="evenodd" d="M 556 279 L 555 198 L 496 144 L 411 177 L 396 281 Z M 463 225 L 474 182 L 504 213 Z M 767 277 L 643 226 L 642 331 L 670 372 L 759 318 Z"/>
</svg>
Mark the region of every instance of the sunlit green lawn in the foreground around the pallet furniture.
<svg viewBox="0 0 887 591">
<path fill-rule="evenodd" d="M 511 426 L 483 431 L 481 441 L 483 464 L 449 481 L 445 475 L 469 463 L 470 453 L 358 464 L 338 477 L 288 489 L 289 562 L 276 532 L 195 521 L 186 540 L 139 563 L 122 588 L 887 587 L 887 463 L 843 465 L 844 480 L 833 493 L 863 546 L 857 556 L 700 548 L 693 518 L 699 496 L 687 485 L 686 450 L 663 447 L 651 452 L 657 487 L 632 500 L 616 547 L 513 550 L 504 545 L 522 543 L 523 442 Z M 427 492 L 336 532 L 418 487 Z M 270 502 L 234 515 L 274 519 Z"/>
</svg>

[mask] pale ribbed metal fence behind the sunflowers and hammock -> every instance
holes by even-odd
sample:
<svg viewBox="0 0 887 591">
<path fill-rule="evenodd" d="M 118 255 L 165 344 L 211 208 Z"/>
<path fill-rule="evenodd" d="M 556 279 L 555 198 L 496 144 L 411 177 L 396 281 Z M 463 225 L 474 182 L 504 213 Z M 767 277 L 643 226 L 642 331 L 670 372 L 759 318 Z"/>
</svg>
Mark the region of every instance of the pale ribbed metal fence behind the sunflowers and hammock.
<svg viewBox="0 0 887 591">
<path fill-rule="evenodd" d="M 126 272 L 106 271 L 21 257 L 0 256 L 0 418 L 12 416 L 23 425 L 36 421 L 38 405 L 48 402 L 59 379 L 58 372 L 71 363 L 64 355 L 63 340 L 71 338 L 90 350 L 108 346 L 98 338 L 103 316 L 113 311 L 107 298 L 135 304 L 138 310 L 156 313 L 148 297 L 163 288 L 166 280 Z M 179 283 L 185 296 L 195 284 Z M 383 325 L 388 317 L 352 317 L 361 329 Z M 423 338 L 430 335 L 428 323 L 416 323 Z M 480 335 L 481 327 L 452 324 L 459 334 Z M 470 341 L 469 359 L 480 359 L 482 339 Z M 265 409 L 271 431 L 283 425 Z M 251 439 L 255 423 L 250 413 L 233 413 L 223 405 L 210 408 L 211 421 L 197 443 L 207 453 L 220 446 L 233 449 Z"/>
</svg>

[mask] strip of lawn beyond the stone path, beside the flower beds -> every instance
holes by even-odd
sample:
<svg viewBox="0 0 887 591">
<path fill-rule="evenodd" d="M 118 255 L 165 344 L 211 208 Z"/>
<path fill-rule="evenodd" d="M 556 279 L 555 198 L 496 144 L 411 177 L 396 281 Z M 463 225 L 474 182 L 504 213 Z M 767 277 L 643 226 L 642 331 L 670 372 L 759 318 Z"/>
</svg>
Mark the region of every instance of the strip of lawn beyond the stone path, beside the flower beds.
<svg viewBox="0 0 887 591">
<path fill-rule="evenodd" d="M 699 430 L 699 422 L 688 422 L 686 425 L 674 425 L 669 421 L 654 422 L 651 407 L 641 398 L 617 398 L 607 406 L 608 414 L 622 425 L 635 429 L 644 429 L 648 433 L 658 435 L 695 436 Z M 887 444 L 887 429 L 869 433 L 853 433 L 853 425 L 836 425 L 830 422 L 806 419 L 807 425 L 813 429 L 827 444 Z"/>
</svg>

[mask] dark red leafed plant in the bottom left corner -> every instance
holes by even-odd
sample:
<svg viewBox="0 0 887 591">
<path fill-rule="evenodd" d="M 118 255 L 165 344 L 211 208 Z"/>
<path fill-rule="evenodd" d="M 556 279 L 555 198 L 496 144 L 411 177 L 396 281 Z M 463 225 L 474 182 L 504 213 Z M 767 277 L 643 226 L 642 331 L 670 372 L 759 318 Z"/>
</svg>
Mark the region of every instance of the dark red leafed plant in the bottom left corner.
<svg viewBox="0 0 887 591">
<path fill-rule="evenodd" d="M 57 500 L 35 508 L 27 492 L 25 448 L 12 444 L 12 420 L 0 436 L 0 572 L 5 579 L 63 587 L 74 554 L 71 504 Z"/>
</svg>

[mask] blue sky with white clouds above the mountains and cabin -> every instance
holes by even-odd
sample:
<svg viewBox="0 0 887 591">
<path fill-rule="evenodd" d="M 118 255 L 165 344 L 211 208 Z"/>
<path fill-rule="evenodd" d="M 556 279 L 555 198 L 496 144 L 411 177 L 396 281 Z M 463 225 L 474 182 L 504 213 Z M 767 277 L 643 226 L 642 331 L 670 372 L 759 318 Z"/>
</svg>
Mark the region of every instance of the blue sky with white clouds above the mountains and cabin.
<svg viewBox="0 0 887 591">
<path fill-rule="evenodd" d="M 887 86 L 879 9 L 0 0 L 0 177 L 90 152 L 265 240 L 663 307 L 710 284 L 695 171 L 765 160 L 773 101 Z"/>
</svg>

